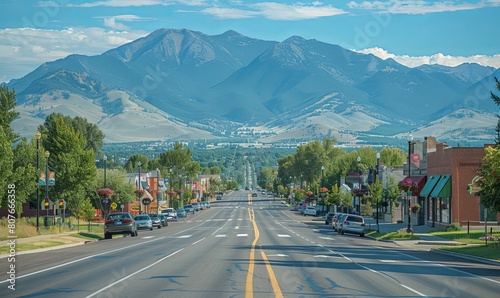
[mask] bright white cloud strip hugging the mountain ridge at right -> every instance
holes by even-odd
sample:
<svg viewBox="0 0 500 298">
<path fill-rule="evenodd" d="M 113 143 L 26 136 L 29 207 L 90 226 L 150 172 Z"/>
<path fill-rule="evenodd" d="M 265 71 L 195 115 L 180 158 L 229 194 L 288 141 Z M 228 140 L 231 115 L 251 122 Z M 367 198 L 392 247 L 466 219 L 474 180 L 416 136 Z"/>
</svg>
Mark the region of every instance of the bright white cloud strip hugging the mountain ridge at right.
<svg viewBox="0 0 500 298">
<path fill-rule="evenodd" d="M 477 63 L 483 66 L 491 66 L 500 68 L 500 54 L 487 56 L 487 55 L 474 55 L 469 57 L 464 56 L 450 56 L 442 53 L 437 53 L 431 56 L 408 56 L 408 55 L 395 55 L 388 53 L 381 48 L 369 48 L 356 51 L 363 54 L 373 54 L 381 59 L 392 58 L 400 64 L 408 67 L 417 67 L 423 64 L 440 64 L 445 66 L 457 66 L 463 63 Z"/>
</svg>

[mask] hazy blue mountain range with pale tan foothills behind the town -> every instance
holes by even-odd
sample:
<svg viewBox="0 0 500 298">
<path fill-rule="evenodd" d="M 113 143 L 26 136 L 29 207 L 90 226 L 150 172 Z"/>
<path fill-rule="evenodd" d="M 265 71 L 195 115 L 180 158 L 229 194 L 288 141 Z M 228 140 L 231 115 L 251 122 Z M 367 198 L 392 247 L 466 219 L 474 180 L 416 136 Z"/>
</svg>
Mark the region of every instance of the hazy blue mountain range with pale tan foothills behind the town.
<svg viewBox="0 0 500 298">
<path fill-rule="evenodd" d="M 101 55 L 44 63 L 8 87 L 21 113 L 14 129 L 27 136 L 60 112 L 96 123 L 106 142 L 390 143 L 412 131 L 482 144 L 494 139 L 494 77 L 499 69 L 409 68 L 299 36 L 159 29 Z"/>
</svg>

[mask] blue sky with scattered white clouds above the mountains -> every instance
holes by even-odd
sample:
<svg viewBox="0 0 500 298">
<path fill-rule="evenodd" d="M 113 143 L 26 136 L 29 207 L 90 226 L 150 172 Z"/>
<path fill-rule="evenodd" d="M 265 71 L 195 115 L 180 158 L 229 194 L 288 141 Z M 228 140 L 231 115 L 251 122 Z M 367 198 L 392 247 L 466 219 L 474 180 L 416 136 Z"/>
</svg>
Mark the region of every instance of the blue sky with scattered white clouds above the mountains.
<svg viewBox="0 0 500 298">
<path fill-rule="evenodd" d="M 69 54 L 97 55 L 159 28 L 298 35 L 414 67 L 500 68 L 500 0 L 2 0 L 0 82 Z"/>
</svg>

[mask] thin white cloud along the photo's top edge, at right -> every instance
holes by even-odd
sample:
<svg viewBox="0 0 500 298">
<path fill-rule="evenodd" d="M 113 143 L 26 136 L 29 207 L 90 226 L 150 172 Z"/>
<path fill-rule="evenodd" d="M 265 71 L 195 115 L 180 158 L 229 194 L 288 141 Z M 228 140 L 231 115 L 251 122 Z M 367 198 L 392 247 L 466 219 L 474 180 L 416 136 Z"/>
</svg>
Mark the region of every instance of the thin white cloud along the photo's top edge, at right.
<svg viewBox="0 0 500 298">
<path fill-rule="evenodd" d="M 389 1 L 351 1 L 347 7 L 357 10 L 378 11 L 392 14 L 427 14 L 446 11 L 473 10 L 484 7 L 500 6 L 498 0 L 485 0 L 475 3 L 456 1 L 389 0 Z"/>
</svg>

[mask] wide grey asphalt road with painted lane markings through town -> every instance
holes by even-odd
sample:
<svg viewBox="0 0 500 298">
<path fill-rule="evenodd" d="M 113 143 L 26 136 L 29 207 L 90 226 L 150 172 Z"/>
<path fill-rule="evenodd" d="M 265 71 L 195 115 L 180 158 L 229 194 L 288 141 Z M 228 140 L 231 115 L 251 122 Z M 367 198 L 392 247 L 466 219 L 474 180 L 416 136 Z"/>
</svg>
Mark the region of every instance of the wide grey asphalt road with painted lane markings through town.
<svg viewBox="0 0 500 298">
<path fill-rule="evenodd" d="M 15 258 L 0 297 L 497 297 L 498 266 L 339 235 L 237 191 L 168 227 Z M 12 262 L 0 259 L 1 272 Z"/>
</svg>

